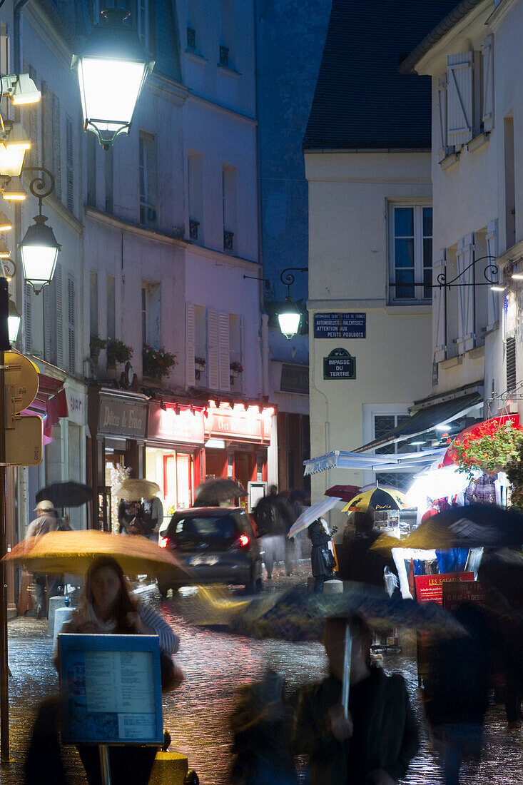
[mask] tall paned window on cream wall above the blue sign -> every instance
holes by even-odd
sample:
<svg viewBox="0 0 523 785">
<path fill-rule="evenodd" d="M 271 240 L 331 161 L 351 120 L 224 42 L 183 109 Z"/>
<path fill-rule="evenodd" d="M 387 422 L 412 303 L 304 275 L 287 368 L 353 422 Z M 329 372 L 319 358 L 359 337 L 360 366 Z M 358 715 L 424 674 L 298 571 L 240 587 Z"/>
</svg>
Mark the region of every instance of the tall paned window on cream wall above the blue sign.
<svg viewBox="0 0 523 785">
<path fill-rule="evenodd" d="M 391 300 L 432 299 L 432 207 L 391 208 Z"/>
</svg>

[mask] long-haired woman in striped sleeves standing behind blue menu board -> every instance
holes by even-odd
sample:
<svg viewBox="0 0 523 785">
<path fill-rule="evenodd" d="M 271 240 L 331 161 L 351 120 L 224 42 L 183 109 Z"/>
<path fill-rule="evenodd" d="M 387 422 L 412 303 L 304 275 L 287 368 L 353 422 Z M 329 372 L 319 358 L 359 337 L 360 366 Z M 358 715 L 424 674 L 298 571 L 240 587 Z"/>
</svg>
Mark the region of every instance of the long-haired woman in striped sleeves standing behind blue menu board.
<svg viewBox="0 0 523 785">
<path fill-rule="evenodd" d="M 93 562 L 86 575 L 82 603 L 71 621 L 64 625 L 62 632 L 158 635 L 162 662 L 170 662 L 171 665 L 174 663 L 170 655 L 177 652 L 180 644 L 179 638 L 162 616 L 131 597 L 122 568 L 111 557 L 101 557 Z M 172 668 L 169 675 L 173 675 Z M 177 678 L 177 683 L 180 683 L 180 671 L 177 671 Z M 169 685 L 169 688 L 173 687 L 174 684 Z M 109 747 L 113 785 L 147 785 L 156 752 L 155 747 Z M 97 747 L 79 745 L 79 754 L 88 783 L 101 785 Z"/>
</svg>

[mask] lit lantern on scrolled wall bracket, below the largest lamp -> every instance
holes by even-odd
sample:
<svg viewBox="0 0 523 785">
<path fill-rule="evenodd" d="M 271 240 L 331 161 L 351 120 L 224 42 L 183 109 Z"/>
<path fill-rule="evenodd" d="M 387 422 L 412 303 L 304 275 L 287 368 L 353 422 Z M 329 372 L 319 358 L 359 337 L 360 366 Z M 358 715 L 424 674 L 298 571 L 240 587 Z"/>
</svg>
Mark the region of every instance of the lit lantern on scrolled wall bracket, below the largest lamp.
<svg viewBox="0 0 523 785">
<path fill-rule="evenodd" d="M 20 243 L 24 278 L 26 283 L 33 287 L 35 294 L 40 294 L 43 287 L 53 280 L 58 251 L 62 246 L 57 243 L 53 229 L 46 226 L 47 216 L 42 215 L 42 199 L 53 192 L 54 177 L 49 170 L 41 167 L 29 167 L 25 171 L 31 170 L 44 173 L 50 181 L 49 188 L 45 187 L 43 177 L 35 177 L 29 184 L 31 194 L 38 196 L 38 215 L 35 215 L 33 219 L 35 223 L 27 228 L 24 239 Z"/>
</svg>

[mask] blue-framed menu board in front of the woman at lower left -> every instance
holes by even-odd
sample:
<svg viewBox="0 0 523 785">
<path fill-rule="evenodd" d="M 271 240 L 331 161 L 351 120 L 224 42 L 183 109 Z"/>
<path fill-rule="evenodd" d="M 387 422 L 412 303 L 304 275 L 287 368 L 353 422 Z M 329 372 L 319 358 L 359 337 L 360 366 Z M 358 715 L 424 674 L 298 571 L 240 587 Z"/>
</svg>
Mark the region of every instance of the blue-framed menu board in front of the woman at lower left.
<svg viewBox="0 0 523 785">
<path fill-rule="evenodd" d="M 163 741 L 156 635 L 58 636 L 64 744 Z"/>
</svg>

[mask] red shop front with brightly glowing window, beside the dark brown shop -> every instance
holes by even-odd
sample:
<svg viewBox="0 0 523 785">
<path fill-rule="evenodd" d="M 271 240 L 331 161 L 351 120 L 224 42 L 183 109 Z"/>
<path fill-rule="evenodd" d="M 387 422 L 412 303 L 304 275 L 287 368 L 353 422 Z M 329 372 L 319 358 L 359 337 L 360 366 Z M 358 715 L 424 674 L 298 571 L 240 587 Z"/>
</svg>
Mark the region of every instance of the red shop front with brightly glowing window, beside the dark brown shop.
<svg viewBox="0 0 523 785">
<path fill-rule="evenodd" d="M 192 505 L 202 482 L 203 411 L 150 401 L 145 476 L 159 484 L 165 513 Z"/>
</svg>

